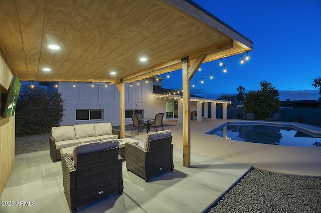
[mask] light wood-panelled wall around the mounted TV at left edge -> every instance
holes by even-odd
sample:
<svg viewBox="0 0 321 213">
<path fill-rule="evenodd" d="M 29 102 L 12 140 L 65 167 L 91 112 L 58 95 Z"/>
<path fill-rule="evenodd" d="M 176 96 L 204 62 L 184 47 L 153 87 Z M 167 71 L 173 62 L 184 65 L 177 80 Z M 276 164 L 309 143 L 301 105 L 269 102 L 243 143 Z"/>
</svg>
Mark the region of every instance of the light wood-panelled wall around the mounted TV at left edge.
<svg viewBox="0 0 321 213">
<path fill-rule="evenodd" d="M 0 94 L 6 93 L 13 75 L 0 57 Z M 0 196 L 15 164 L 15 116 L 0 117 Z"/>
</svg>

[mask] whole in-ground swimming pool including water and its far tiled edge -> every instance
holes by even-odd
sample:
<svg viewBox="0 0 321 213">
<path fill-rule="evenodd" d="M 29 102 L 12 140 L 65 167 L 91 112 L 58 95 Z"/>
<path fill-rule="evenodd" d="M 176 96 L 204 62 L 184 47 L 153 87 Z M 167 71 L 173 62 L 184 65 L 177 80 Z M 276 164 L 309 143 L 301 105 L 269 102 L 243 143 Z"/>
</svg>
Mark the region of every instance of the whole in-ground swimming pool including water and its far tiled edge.
<svg viewBox="0 0 321 213">
<path fill-rule="evenodd" d="M 321 132 L 311 131 L 295 124 L 271 122 L 227 122 L 205 134 L 220 137 L 282 146 L 321 146 Z"/>
</svg>

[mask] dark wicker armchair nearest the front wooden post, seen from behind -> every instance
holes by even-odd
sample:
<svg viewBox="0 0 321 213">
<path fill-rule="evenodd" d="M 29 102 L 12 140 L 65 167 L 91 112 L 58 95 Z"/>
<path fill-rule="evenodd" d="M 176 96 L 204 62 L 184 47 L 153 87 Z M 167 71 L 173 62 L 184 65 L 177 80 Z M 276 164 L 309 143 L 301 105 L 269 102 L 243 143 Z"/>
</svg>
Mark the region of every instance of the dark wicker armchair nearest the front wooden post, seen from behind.
<svg viewBox="0 0 321 213">
<path fill-rule="evenodd" d="M 163 132 L 161 131 L 157 133 Z M 170 132 L 170 131 L 169 131 Z M 150 134 L 148 133 L 147 138 Z M 149 178 L 168 169 L 173 171 L 173 144 L 172 136 L 160 137 L 145 142 L 145 148 L 134 143 L 126 143 L 126 168 L 127 171 L 138 175 L 148 182 Z"/>
</svg>

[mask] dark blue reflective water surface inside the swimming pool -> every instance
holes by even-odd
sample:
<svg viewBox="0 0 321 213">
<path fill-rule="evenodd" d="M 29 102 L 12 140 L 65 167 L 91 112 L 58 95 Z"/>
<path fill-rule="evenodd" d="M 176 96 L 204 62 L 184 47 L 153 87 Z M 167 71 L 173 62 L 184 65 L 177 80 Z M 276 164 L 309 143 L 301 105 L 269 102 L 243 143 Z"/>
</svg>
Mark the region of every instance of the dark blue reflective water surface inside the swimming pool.
<svg viewBox="0 0 321 213">
<path fill-rule="evenodd" d="M 321 137 L 313 137 L 291 127 L 228 124 L 211 134 L 252 143 L 282 146 L 321 146 Z"/>
</svg>

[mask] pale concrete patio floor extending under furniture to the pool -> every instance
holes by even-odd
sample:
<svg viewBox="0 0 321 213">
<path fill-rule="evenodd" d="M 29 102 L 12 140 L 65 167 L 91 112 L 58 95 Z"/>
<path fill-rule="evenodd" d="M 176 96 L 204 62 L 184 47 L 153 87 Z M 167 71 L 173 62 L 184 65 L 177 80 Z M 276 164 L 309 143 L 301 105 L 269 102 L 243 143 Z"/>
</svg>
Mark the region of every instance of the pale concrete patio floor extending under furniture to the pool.
<svg viewBox="0 0 321 213">
<path fill-rule="evenodd" d="M 235 121 L 235 120 L 233 120 Z M 182 125 L 173 126 L 174 171 L 145 183 L 123 163 L 122 194 L 114 194 L 80 206 L 77 212 L 203 212 L 231 186 L 255 168 L 306 176 L 321 176 L 321 147 L 289 147 L 226 140 L 205 132 L 226 122 L 203 119 L 191 123 L 191 167 L 182 166 Z M 125 132 L 143 146 L 146 132 Z M 49 150 L 16 155 L 16 163 L 1 201 L 0 212 L 69 212 L 62 186 L 61 162 L 53 163 Z M 17 206 L 17 201 L 35 205 Z"/>
</svg>

